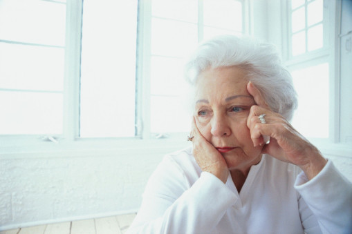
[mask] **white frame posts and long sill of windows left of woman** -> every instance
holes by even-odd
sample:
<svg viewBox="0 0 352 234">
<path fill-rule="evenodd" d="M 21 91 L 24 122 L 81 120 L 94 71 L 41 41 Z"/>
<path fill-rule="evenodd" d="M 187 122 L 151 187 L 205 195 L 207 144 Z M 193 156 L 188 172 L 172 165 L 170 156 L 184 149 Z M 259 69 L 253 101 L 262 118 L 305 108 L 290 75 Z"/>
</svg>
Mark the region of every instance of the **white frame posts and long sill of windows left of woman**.
<svg viewBox="0 0 352 234">
<path fill-rule="evenodd" d="M 243 32 L 248 32 L 246 1 L 242 2 Z M 198 0 L 202 8 L 203 1 Z M 138 50 L 136 70 L 136 127 L 135 137 L 80 138 L 80 43 L 82 33 L 82 0 L 66 1 L 66 52 L 64 77 L 64 129 L 62 135 L 0 135 L 0 158 L 23 157 L 80 157 L 98 154 L 119 157 L 138 154 L 169 153 L 190 146 L 188 133 L 172 133 L 167 137 L 151 136 L 150 131 L 150 41 L 151 2 L 138 3 Z M 199 14 L 198 17 L 201 17 Z M 203 21 L 198 21 L 203 25 Z M 198 30 L 202 35 L 202 30 Z M 201 38 L 201 37 L 200 37 Z M 143 79 L 140 79 L 143 77 Z"/>
</svg>

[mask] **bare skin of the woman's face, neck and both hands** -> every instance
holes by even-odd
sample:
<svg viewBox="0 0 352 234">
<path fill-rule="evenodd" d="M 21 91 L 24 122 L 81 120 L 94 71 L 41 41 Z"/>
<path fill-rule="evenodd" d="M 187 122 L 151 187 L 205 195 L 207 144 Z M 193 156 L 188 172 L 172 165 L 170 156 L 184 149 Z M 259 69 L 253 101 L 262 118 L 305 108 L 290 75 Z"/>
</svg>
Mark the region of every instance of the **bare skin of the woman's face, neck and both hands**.
<svg viewBox="0 0 352 234">
<path fill-rule="evenodd" d="M 263 153 L 299 166 L 312 179 L 326 159 L 270 109 L 245 77 L 246 72 L 234 66 L 199 75 L 191 130 L 196 162 L 224 183 L 230 173 L 239 191 L 250 166 L 258 164 Z M 266 114 L 266 124 L 261 124 L 261 114 Z M 270 143 L 265 144 L 264 135 L 270 137 Z"/>
</svg>

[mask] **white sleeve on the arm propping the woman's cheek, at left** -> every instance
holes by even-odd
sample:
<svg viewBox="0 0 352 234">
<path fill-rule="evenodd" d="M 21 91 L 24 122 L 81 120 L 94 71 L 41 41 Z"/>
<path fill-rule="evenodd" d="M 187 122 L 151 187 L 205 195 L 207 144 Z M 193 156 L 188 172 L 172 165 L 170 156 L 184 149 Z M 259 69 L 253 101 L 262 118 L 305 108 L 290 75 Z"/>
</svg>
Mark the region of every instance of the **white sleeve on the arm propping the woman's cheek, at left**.
<svg viewBox="0 0 352 234">
<path fill-rule="evenodd" d="M 183 172 L 170 164 L 160 164 L 149 179 L 128 233 L 211 233 L 235 203 L 234 193 L 214 175 L 203 172 L 187 188 Z"/>
</svg>

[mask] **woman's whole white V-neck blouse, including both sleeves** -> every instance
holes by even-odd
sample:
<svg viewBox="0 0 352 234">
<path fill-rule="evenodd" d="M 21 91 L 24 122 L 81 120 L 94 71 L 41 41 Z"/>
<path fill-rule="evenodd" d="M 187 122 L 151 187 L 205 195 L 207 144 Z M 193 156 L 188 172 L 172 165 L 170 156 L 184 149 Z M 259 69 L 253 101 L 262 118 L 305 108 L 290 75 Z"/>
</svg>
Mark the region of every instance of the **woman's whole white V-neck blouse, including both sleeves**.
<svg viewBox="0 0 352 234">
<path fill-rule="evenodd" d="M 352 233 L 352 184 L 329 160 L 308 182 L 263 155 L 238 193 L 202 172 L 192 148 L 166 155 L 151 175 L 128 233 Z"/>
</svg>

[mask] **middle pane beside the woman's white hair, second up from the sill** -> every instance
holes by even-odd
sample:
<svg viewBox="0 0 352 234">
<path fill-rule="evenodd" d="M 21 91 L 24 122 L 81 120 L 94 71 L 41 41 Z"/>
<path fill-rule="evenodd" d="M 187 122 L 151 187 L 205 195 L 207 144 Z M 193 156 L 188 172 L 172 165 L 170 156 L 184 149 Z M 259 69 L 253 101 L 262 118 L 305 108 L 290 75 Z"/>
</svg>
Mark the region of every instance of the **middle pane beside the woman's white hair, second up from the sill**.
<svg viewBox="0 0 352 234">
<path fill-rule="evenodd" d="M 183 60 L 151 57 L 151 95 L 180 95 L 186 86 Z"/>
</svg>

